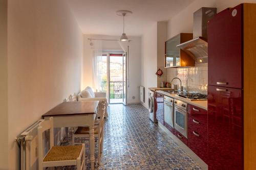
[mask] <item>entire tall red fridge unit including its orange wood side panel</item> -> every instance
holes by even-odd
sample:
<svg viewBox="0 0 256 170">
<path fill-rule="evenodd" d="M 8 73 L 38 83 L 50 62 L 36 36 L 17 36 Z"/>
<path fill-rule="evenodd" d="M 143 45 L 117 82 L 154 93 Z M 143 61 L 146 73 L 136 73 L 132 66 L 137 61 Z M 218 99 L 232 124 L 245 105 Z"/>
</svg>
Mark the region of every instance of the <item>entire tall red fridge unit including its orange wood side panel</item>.
<svg viewBox="0 0 256 170">
<path fill-rule="evenodd" d="M 255 30 L 256 4 L 228 8 L 208 22 L 209 170 L 256 167 Z"/>
</svg>

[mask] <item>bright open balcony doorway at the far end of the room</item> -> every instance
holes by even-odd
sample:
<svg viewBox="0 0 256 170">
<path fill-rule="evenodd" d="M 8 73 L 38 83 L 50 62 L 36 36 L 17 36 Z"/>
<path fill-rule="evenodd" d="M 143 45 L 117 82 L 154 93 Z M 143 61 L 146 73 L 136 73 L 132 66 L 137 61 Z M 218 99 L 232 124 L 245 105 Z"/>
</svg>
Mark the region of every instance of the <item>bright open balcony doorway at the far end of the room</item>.
<svg viewBox="0 0 256 170">
<path fill-rule="evenodd" d="M 102 55 L 101 91 L 108 94 L 110 104 L 126 105 L 126 54 Z"/>
</svg>

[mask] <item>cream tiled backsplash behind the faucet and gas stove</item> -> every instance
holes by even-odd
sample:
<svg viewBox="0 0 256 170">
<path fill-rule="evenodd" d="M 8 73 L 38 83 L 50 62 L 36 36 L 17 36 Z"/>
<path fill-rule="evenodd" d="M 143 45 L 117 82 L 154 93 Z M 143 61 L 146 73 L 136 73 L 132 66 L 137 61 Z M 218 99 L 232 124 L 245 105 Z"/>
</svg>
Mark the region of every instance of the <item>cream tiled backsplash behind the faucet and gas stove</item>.
<svg viewBox="0 0 256 170">
<path fill-rule="evenodd" d="M 181 79 L 184 90 L 197 91 L 207 94 L 208 84 L 208 64 L 196 64 L 195 67 L 178 67 L 167 68 L 167 81 L 172 81 L 173 78 Z M 174 80 L 173 84 L 180 85 L 179 80 Z"/>
</svg>

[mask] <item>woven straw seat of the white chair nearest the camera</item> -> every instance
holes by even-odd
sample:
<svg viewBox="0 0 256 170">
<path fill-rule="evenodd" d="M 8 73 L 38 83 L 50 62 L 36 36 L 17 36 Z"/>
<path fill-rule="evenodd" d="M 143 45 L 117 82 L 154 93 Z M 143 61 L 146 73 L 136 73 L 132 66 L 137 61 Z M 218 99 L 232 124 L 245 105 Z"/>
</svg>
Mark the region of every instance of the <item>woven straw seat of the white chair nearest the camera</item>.
<svg viewBox="0 0 256 170">
<path fill-rule="evenodd" d="M 76 160 L 82 150 L 82 145 L 52 147 L 44 158 L 44 162 Z"/>
</svg>

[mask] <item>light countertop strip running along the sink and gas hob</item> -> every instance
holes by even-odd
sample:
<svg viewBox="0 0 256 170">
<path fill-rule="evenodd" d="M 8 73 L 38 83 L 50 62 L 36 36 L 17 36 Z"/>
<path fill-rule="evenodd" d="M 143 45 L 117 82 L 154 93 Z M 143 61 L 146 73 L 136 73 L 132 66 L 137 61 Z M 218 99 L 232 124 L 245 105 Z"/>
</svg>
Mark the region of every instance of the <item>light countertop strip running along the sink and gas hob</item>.
<svg viewBox="0 0 256 170">
<path fill-rule="evenodd" d="M 159 89 L 159 90 L 161 90 L 161 89 Z M 200 107 L 202 109 L 207 110 L 207 101 L 189 101 L 189 100 L 186 100 L 186 99 L 184 99 L 184 98 L 182 98 L 180 96 L 176 96 L 176 94 L 162 92 L 162 91 L 159 91 L 159 90 L 157 90 L 158 93 L 167 95 L 170 98 L 174 98 L 174 99 L 180 100 L 182 102 L 185 102 L 185 103 L 188 103 L 188 104 L 191 104 L 191 105 L 194 105 L 194 106 L 197 106 L 197 107 Z"/>
</svg>

